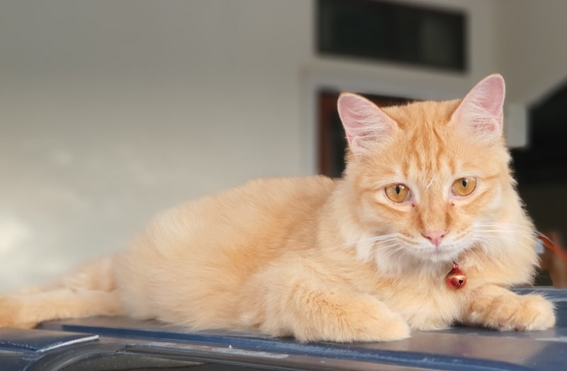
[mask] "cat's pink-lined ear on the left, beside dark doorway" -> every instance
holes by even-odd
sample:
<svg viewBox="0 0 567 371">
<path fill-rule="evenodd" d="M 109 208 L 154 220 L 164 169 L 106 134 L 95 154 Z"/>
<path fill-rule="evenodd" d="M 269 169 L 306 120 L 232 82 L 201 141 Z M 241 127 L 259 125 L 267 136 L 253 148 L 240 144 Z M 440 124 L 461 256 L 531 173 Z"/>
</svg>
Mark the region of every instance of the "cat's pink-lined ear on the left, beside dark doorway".
<svg viewBox="0 0 567 371">
<path fill-rule="evenodd" d="M 372 144 L 391 137 L 396 123 L 377 105 L 353 93 L 341 93 L 337 110 L 354 154 L 364 154 Z"/>
</svg>

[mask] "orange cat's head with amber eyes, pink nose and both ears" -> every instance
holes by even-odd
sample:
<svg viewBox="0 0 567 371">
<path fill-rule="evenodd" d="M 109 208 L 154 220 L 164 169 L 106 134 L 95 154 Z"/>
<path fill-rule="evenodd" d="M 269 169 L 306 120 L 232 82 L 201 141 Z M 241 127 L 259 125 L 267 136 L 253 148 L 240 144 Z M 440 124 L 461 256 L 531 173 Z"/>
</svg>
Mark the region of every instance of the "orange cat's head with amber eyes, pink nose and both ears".
<svg viewBox="0 0 567 371">
<path fill-rule="evenodd" d="M 507 214 L 523 215 L 503 139 L 504 95 L 493 74 L 454 101 L 378 108 L 356 94 L 339 97 L 344 182 L 372 241 L 367 253 L 451 261 L 490 242 L 489 231 L 514 221 Z"/>
</svg>

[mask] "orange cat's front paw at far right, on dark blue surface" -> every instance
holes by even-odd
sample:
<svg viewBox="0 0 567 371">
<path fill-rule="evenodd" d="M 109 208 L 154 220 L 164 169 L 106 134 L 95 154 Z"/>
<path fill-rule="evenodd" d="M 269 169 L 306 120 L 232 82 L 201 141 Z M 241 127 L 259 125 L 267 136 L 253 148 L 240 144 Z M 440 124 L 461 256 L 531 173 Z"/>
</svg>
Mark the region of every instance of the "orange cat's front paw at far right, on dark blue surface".
<svg viewBox="0 0 567 371">
<path fill-rule="evenodd" d="M 539 295 L 497 297 L 486 309 L 473 312 L 473 321 L 500 331 L 537 331 L 555 324 L 553 304 Z"/>
</svg>

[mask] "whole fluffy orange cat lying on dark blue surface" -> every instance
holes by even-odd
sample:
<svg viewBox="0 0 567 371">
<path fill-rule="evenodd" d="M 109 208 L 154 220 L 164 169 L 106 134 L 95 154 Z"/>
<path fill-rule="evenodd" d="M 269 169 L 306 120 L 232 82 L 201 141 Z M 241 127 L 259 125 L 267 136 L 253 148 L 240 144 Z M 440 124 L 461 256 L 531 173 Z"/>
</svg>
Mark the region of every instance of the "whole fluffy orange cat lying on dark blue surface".
<svg viewBox="0 0 567 371">
<path fill-rule="evenodd" d="M 554 325 L 503 139 L 504 81 L 377 108 L 344 93 L 344 177 L 262 179 L 158 215 L 127 251 L 0 297 L 0 326 L 96 314 L 299 341 Z M 449 285 L 446 275 L 466 283 Z M 462 274 L 461 274 L 462 273 Z M 453 282 L 454 283 L 454 282 Z"/>
</svg>

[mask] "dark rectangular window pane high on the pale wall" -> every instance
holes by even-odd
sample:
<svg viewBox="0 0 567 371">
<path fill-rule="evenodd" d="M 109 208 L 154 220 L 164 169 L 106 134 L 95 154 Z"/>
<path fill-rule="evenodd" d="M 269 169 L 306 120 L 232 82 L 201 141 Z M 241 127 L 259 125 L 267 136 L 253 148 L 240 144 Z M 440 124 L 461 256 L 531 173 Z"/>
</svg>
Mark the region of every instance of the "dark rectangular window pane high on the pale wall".
<svg viewBox="0 0 567 371">
<path fill-rule="evenodd" d="M 322 55 L 464 71 L 466 17 L 458 11 L 374 0 L 318 0 Z"/>
</svg>

